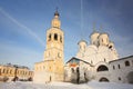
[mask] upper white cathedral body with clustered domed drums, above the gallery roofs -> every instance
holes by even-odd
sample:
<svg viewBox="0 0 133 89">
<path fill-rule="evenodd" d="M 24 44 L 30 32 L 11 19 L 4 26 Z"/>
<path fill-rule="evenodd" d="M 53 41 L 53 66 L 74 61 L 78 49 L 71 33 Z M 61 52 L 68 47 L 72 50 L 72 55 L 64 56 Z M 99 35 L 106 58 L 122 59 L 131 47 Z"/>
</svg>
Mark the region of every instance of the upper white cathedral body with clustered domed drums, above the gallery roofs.
<svg viewBox="0 0 133 89">
<path fill-rule="evenodd" d="M 78 44 L 80 49 L 75 57 L 92 65 L 96 65 L 100 61 L 109 62 L 119 58 L 113 42 L 105 32 L 93 32 L 89 46 L 86 46 L 84 40 L 81 40 Z"/>
</svg>

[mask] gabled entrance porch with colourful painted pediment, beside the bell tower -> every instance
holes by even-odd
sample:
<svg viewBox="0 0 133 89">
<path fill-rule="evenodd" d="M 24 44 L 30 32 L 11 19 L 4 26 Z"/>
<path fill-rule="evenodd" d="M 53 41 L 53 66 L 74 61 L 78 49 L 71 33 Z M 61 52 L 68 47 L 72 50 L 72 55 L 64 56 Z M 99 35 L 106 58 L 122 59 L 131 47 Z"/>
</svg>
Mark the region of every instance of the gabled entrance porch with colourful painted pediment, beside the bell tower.
<svg viewBox="0 0 133 89">
<path fill-rule="evenodd" d="M 92 65 L 78 58 L 70 59 L 64 67 L 64 81 L 85 82 L 92 78 Z M 78 80 L 79 78 L 79 80 Z"/>
</svg>

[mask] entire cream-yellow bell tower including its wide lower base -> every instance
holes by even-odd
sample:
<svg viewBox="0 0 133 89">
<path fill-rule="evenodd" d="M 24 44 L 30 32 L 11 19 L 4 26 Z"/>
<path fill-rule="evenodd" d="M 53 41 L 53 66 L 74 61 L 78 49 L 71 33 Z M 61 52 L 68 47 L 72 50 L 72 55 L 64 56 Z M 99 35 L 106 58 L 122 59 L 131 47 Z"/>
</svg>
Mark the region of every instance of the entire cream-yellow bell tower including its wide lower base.
<svg viewBox="0 0 133 89">
<path fill-rule="evenodd" d="M 59 12 L 55 11 L 51 28 L 47 30 L 43 60 L 34 65 L 34 82 L 63 81 L 64 79 L 64 33 L 59 17 Z"/>
</svg>

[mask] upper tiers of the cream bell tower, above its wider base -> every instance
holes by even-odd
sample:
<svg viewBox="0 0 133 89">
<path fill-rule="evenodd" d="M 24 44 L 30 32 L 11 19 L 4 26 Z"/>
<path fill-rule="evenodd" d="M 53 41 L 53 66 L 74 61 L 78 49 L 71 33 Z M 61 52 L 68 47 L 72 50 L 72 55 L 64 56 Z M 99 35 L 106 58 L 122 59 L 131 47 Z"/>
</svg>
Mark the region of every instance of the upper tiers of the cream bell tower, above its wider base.
<svg viewBox="0 0 133 89">
<path fill-rule="evenodd" d="M 51 28 L 47 31 L 44 60 L 63 60 L 64 34 L 60 26 L 59 12 L 55 11 L 54 18 L 51 22 Z"/>
</svg>

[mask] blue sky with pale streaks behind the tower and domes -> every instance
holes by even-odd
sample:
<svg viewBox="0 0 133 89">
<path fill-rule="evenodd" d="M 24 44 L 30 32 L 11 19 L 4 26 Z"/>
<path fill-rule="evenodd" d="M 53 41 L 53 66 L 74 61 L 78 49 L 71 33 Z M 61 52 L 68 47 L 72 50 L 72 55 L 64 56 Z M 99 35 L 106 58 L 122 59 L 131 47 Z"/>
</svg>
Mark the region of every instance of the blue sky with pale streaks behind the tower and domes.
<svg viewBox="0 0 133 89">
<path fill-rule="evenodd" d="M 78 41 L 90 43 L 93 23 L 110 34 L 120 57 L 133 55 L 132 4 L 133 0 L 82 0 L 81 20 L 81 0 L 0 0 L 0 63 L 33 68 L 42 61 L 57 7 L 65 33 L 65 61 L 75 56 Z"/>
</svg>

